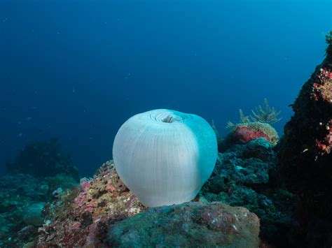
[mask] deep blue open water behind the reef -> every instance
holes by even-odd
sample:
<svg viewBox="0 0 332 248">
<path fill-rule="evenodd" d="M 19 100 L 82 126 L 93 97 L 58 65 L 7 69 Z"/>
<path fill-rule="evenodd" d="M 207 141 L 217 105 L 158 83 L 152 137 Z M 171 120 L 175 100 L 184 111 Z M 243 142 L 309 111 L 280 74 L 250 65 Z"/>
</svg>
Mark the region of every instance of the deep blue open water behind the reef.
<svg viewBox="0 0 332 248">
<path fill-rule="evenodd" d="M 332 1 L 0 1 L 0 173 L 57 137 L 81 175 L 154 108 L 214 122 L 268 98 L 282 126 L 332 29 Z"/>
</svg>

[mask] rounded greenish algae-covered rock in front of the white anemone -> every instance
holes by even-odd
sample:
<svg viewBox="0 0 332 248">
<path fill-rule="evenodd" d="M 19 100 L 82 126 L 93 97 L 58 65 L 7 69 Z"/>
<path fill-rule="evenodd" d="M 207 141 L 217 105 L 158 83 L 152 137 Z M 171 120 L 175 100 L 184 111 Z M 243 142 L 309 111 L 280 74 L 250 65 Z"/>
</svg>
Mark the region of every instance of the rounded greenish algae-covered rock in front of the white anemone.
<svg viewBox="0 0 332 248">
<path fill-rule="evenodd" d="M 113 224 L 111 247 L 258 247 L 259 219 L 244 207 L 191 202 L 154 207 Z"/>
</svg>

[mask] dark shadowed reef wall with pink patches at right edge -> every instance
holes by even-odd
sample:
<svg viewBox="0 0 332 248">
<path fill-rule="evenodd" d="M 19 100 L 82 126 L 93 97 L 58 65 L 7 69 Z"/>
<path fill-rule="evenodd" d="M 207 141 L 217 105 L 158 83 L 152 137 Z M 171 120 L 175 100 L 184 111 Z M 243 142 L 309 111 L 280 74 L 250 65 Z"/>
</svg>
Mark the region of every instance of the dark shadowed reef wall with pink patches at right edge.
<svg viewBox="0 0 332 248">
<path fill-rule="evenodd" d="M 309 247 L 332 245 L 332 31 L 326 43 L 326 58 L 291 105 L 277 147 L 282 177 L 300 197 L 293 239 Z"/>
</svg>

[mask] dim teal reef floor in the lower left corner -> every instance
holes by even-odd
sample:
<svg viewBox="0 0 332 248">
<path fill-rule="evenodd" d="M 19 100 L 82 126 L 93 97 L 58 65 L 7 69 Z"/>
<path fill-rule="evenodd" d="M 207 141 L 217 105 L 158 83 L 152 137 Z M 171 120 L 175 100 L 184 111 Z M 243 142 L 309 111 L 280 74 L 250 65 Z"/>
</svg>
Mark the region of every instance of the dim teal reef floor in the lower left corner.
<svg viewBox="0 0 332 248">
<path fill-rule="evenodd" d="M 64 175 L 43 179 L 8 173 L 0 177 L 0 247 L 23 247 L 33 242 L 44 221 L 41 215 L 44 205 L 56 197 L 53 189 L 67 191 L 74 186 L 77 182 Z"/>
</svg>

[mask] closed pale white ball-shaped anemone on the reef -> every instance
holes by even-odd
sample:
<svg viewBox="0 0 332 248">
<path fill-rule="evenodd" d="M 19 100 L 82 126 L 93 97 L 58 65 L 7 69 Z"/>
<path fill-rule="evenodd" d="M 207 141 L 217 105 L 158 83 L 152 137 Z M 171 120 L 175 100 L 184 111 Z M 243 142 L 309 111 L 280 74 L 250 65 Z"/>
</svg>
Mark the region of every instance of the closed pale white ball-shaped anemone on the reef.
<svg viewBox="0 0 332 248">
<path fill-rule="evenodd" d="M 166 109 L 130 117 L 113 143 L 118 175 L 148 207 L 195 198 L 217 153 L 216 135 L 205 119 Z"/>
</svg>

